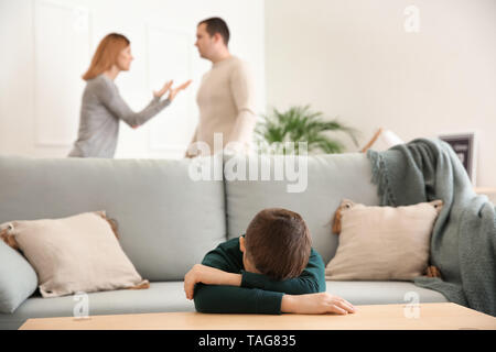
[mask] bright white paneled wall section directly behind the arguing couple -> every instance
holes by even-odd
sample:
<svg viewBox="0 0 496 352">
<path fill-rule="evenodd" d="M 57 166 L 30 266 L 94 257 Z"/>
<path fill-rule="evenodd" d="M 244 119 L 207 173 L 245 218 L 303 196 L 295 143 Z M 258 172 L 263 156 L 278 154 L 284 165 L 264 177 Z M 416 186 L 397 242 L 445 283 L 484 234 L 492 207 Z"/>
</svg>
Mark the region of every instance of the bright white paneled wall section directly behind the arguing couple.
<svg viewBox="0 0 496 352">
<path fill-rule="evenodd" d="M 101 37 L 120 32 L 134 61 L 116 79 L 134 110 L 169 80 L 193 85 L 145 125 L 121 123 L 116 157 L 181 157 L 197 122 L 196 90 L 211 64 L 194 46 L 196 24 L 219 15 L 230 52 L 255 74 L 265 108 L 262 0 L 0 0 L 0 153 L 67 155 L 77 135 L 80 78 Z"/>
</svg>

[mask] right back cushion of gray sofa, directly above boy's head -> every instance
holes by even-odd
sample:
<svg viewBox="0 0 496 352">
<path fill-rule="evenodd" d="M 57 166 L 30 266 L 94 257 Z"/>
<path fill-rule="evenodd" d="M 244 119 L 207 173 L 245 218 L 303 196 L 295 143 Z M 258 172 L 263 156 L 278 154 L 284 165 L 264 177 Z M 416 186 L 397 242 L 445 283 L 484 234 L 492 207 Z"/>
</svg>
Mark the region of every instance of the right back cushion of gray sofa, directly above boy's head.
<svg viewBox="0 0 496 352">
<path fill-rule="evenodd" d="M 332 233 L 332 217 L 342 199 L 351 198 L 367 206 L 379 205 L 377 188 L 370 182 L 370 162 L 362 153 L 311 155 L 306 170 L 302 164 L 301 177 L 294 168 L 296 173 L 283 172 L 282 180 L 278 180 L 276 170 L 281 168 L 281 163 L 292 169 L 292 157 L 284 160 L 281 162 L 281 156 L 273 155 L 225 156 L 228 238 L 242 234 L 261 209 L 285 208 L 303 217 L 312 234 L 313 248 L 328 263 L 337 248 L 337 235 Z M 258 179 L 250 177 L 250 165 L 252 170 L 254 165 L 258 165 Z M 239 170 L 242 168 L 247 172 Z M 262 169 L 270 169 L 269 180 L 261 180 Z M 239 179 L 241 174 L 246 180 Z"/>
</svg>

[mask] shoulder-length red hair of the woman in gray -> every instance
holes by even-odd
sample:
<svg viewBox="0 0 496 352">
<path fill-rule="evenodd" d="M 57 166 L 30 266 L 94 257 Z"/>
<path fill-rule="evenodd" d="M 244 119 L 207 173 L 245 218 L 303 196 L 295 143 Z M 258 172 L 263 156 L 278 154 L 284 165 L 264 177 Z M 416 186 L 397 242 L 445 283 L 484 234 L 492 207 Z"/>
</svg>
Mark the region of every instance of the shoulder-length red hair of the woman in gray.
<svg viewBox="0 0 496 352">
<path fill-rule="evenodd" d="M 95 78 L 103 74 L 117 62 L 120 52 L 125 50 L 131 42 L 118 33 L 107 34 L 98 44 L 98 47 L 93 55 L 91 64 L 86 74 L 83 75 L 84 80 Z"/>
</svg>

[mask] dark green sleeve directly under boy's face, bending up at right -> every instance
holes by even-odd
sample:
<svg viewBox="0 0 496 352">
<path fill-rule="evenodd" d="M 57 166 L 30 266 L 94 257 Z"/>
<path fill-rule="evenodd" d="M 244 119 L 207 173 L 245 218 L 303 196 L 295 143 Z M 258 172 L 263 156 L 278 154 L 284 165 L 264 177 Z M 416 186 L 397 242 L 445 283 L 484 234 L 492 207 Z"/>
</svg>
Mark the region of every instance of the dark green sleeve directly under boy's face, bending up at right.
<svg viewBox="0 0 496 352">
<path fill-rule="evenodd" d="M 303 295 L 325 292 L 325 265 L 321 255 L 312 249 L 309 264 L 299 277 L 272 280 L 262 274 L 242 272 L 241 287 L 260 288 L 289 295 Z"/>
</svg>

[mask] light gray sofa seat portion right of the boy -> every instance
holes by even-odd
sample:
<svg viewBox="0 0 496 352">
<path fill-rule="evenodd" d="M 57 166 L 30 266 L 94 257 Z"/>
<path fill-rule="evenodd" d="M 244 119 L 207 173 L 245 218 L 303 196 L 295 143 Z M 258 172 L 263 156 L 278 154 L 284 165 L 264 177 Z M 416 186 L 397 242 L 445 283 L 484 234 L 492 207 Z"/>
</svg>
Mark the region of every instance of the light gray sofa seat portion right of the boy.
<svg viewBox="0 0 496 352">
<path fill-rule="evenodd" d="M 355 306 L 449 301 L 442 294 L 418 287 L 411 282 L 327 280 L 326 284 L 327 293 L 339 296 Z"/>
</svg>

